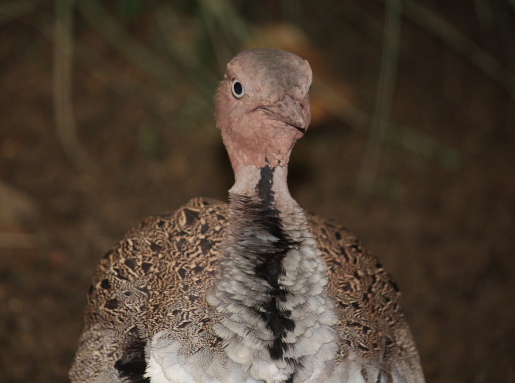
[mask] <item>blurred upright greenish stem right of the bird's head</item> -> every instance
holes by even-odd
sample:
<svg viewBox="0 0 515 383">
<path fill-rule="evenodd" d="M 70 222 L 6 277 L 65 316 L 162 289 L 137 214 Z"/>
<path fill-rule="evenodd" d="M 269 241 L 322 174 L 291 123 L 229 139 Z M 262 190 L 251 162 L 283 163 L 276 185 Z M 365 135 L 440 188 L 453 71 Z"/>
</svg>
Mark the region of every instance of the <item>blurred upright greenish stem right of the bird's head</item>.
<svg viewBox="0 0 515 383">
<path fill-rule="evenodd" d="M 358 196 L 363 198 L 365 202 L 368 202 L 372 195 L 379 162 L 383 153 L 383 146 L 388 133 L 393 95 L 397 81 L 401 26 L 401 0 L 387 0 L 385 2 L 383 52 L 379 83 L 377 84 L 368 140 L 356 185 Z"/>
</svg>

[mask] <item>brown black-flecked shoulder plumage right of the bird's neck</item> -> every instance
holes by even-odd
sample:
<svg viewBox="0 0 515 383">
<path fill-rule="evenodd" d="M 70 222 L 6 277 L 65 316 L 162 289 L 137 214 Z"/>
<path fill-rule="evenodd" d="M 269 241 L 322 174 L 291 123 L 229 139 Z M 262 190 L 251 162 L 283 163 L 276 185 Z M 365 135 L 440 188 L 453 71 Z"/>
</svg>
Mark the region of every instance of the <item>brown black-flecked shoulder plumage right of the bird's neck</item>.
<svg viewBox="0 0 515 383">
<path fill-rule="evenodd" d="M 382 360 L 391 371 L 421 376 L 402 297 L 392 276 L 345 227 L 313 213 L 306 215 L 327 263 L 328 295 L 338 317 L 337 361 L 355 358 L 366 365 Z"/>
</svg>

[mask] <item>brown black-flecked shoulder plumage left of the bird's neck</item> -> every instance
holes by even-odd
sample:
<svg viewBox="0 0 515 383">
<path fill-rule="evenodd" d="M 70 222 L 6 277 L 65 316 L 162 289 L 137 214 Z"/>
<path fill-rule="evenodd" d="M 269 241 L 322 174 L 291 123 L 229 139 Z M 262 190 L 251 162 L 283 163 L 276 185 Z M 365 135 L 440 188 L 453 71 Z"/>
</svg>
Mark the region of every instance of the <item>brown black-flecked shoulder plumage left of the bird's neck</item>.
<svg viewBox="0 0 515 383">
<path fill-rule="evenodd" d="M 201 324 L 226 223 L 227 204 L 193 198 L 130 229 L 96 269 L 87 326 L 129 331 L 145 323 L 139 331 L 148 336 L 170 324 L 178 329 L 194 319 Z M 198 318 L 192 318 L 195 313 Z"/>
</svg>

